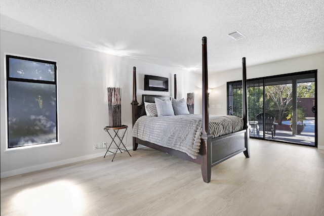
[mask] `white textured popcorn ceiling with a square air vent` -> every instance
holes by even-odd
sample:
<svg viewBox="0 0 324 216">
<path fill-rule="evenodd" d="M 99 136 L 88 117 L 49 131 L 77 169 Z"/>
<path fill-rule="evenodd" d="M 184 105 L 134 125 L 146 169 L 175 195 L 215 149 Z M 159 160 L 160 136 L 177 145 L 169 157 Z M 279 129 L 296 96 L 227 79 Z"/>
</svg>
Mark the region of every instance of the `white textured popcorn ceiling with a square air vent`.
<svg viewBox="0 0 324 216">
<path fill-rule="evenodd" d="M 2 30 L 196 72 L 203 36 L 209 72 L 324 52 L 324 0 L 1 0 L 0 14 Z"/>
</svg>

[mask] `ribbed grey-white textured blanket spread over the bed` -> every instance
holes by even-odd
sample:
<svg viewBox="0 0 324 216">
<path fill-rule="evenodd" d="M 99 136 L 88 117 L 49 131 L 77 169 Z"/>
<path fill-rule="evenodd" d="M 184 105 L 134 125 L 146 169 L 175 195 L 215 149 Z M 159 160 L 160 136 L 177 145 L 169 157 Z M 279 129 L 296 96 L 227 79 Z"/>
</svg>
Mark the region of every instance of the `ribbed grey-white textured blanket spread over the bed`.
<svg viewBox="0 0 324 216">
<path fill-rule="evenodd" d="M 210 115 L 213 138 L 240 131 L 243 120 L 234 115 Z M 132 136 L 160 146 L 182 151 L 195 159 L 200 148 L 201 115 L 141 116 L 133 126 Z"/>
</svg>

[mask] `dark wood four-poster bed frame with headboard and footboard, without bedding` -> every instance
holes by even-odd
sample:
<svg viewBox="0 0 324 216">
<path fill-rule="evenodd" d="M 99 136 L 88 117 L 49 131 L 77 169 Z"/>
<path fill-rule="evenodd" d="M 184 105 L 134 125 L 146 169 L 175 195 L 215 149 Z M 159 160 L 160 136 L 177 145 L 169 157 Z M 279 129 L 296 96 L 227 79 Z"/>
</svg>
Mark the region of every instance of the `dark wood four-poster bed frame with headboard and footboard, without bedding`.
<svg viewBox="0 0 324 216">
<path fill-rule="evenodd" d="M 189 156 L 183 151 L 175 150 L 173 148 L 168 148 L 154 144 L 153 142 L 148 142 L 133 135 L 133 150 L 135 151 L 138 144 L 198 163 L 201 165 L 201 174 L 203 180 L 206 183 L 211 181 L 211 167 L 234 156 L 241 152 L 244 152 L 246 157 L 250 157 L 249 150 L 249 126 L 248 126 L 248 110 L 247 110 L 247 85 L 246 85 L 246 62 L 245 58 L 242 59 L 242 111 L 243 120 L 242 126 L 236 132 L 231 134 L 226 134 L 220 137 L 213 137 L 210 130 L 210 116 L 208 108 L 208 67 L 207 67 L 207 38 L 203 37 L 203 112 L 200 124 L 201 136 L 199 135 L 200 147 L 198 149 L 197 155 L 194 157 Z M 176 84 L 176 76 L 175 76 Z M 175 96 L 176 98 L 176 85 L 175 85 Z M 171 100 L 171 96 L 162 95 L 142 95 L 142 103 L 139 105 L 137 102 L 136 95 L 136 67 L 133 68 L 133 101 L 132 101 L 132 117 L 133 126 L 141 116 L 146 114 L 144 102 L 154 103 L 154 100 Z M 192 114 L 188 115 L 191 116 Z M 185 115 L 183 115 L 185 116 Z M 230 116 L 229 116 L 230 117 Z M 235 117 L 235 116 L 233 116 Z M 158 117 L 157 117 L 158 118 Z M 181 117 L 184 118 L 184 117 Z M 212 125 L 212 124 L 211 124 Z M 137 126 L 137 125 L 136 125 Z M 202 126 L 202 128 L 201 128 Z M 134 129 L 134 128 L 133 128 Z M 160 132 L 163 133 L 163 132 Z M 174 134 L 168 134 L 168 136 L 176 136 Z"/>
</svg>

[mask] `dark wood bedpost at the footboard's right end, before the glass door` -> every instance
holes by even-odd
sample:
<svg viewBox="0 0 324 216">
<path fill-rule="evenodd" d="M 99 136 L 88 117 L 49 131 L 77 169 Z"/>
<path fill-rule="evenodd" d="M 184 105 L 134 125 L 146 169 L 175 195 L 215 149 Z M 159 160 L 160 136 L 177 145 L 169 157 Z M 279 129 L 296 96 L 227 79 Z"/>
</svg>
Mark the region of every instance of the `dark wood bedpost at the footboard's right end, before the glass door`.
<svg viewBox="0 0 324 216">
<path fill-rule="evenodd" d="M 244 120 L 244 128 L 247 130 L 245 135 L 245 145 L 247 150 L 244 151 L 244 155 L 246 157 L 250 157 L 250 128 L 249 128 L 249 111 L 248 111 L 248 86 L 247 86 L 247 65 L 246 65 L 246 58 L 242 58 L 242 90 L 243 90 L 243 97 L 242 97 L 242 110 L 243 110 L 243 120 Z"/>
</svg>

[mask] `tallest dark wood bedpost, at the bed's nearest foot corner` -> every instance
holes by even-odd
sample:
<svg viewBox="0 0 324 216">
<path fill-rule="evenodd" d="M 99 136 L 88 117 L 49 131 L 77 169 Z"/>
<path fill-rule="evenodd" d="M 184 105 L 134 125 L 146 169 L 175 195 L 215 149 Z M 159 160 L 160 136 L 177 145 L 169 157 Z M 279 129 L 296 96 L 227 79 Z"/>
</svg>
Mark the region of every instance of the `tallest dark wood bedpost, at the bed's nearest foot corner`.
<svg viewBox="0 0 324 216">
<path fill-rule="evenodd" d="M 207 65 L 207 37 L 203 37 L 203 129 L 201 131 L 201 174 L 204 182 L 211 181 L 212 165 L 212 135 L 209 131 L 209 110 L 208 110 L 208 65 Z"/>
</svg>

